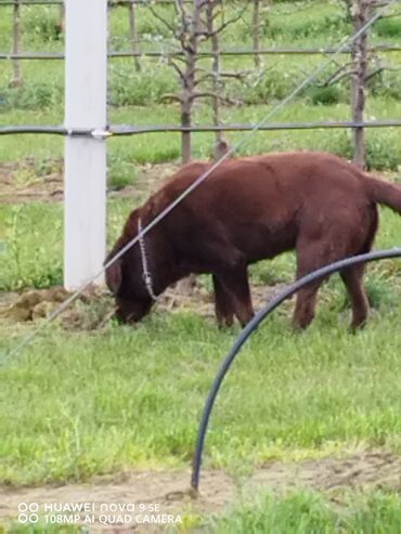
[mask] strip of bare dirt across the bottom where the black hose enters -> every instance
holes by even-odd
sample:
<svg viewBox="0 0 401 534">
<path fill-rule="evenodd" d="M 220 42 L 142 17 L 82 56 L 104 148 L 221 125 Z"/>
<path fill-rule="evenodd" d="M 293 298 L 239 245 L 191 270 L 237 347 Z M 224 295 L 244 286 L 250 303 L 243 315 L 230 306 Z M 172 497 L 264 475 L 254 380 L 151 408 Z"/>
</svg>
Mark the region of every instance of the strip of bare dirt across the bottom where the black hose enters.
<svg viewBox="0 0 401 534">
<path fill-rule="evenodd" d="M 16 519 L 21 503 L 37 503 L 39 511 L 44 504 L 94 505 L 95 518 L 101 504 L 140 505 L 158 504 L 160 513 L 210 513 L 222 511 L 236 499 L 251 499 L 256 492 L 285 492 L 311 489 L 324 492 L 341 489 L 401 490 L 401 457 L 386 452 L 365 452 L 347 458 L 325 458 L 299 463 L 272 461 L 238 483 L 223 471 L 205 470 L 200 492 L 190 491 L 189 470 L 127 472 L 119 476 L 98 477 L 86 484 L 66 484 L 43 487 L 0 487 L 0 521 Z M 329 493 L 328 493 L 329 495 Z M 96 515 L 98 513 L 98 515 Z M 94 523 L 90 532 L 105 526 Z M 150 525 L 113 525 L 114 532 L 164 532 Z"/>
</svg>

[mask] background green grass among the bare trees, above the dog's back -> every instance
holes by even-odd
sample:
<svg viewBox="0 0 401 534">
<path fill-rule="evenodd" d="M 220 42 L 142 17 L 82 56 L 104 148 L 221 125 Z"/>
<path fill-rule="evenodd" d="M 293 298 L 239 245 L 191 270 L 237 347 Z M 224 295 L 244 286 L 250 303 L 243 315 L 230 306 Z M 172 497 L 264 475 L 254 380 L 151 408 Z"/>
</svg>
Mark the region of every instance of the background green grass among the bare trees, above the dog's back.
<svg viewBox="0 0 401 534">
<path fill-rule="evenodd" d="M 298 45 L 314 47 L 338 42 L 339 38 L 349 34 L 344 3 L 338 2 L 298 2 L 297 16 L 292 16 L 294 5 L 276 2 L 262 14 L 264 31 L 262 45 Z M 171 6 L 158 6 L 164 16 L 172 16 Z M 236 9 L 236 8 L 228 8 Z M 1 8 L 0 48 L 11 47 L 10 8 Z M 392 10 L 392 14 L 397 14 Z M 24 6 L 23 32 L 25 50 L 62 51 L 63 41 L 49 38 L 48 26 L 56 18 L 57 8 Z M 397 42 L 394 29 L 399 16 L 380 21 L 372 32 L 372 42 Z M 222 35 L 222 45 L 249 45 L 250 12 L 248 18 L 238 22 L 237 26 L 229 26 Z M 155 23 L 145 8 L 138 9 L 139 32 L 145 38 L 144 47 L 166 50 L 170 48 L 163 23 Z M 380 30 L 380 31 L 379 31 Z M 124 8 L 116 8 L 111 13 L 111 36 L 113 45 L 127 49 L 129 43 L 128 14 Z M 51 36 L 50 36 L 51 37 Z M 160 37 L 160 39 L 159 39 Z M 167 39 L 167 40 L 166 40 Z M 328 39 L 328 41 L 327 41 Z M 208 47 L 208 44 L 205 44 Z M 342 56 L 340 62 L 346 62 Z M 396 70 L 388 70 L 374 78 L 371 94 L 367 97 L 366 118 L 393 118 L 401 114 L 400 74 L 397 70 L 400 53 L 386 55 L 386 62 Z M 244 101 L 242 107 L 223 107 L 223 122 L 257 122 L 274 104 L 286 96 L 318 64 L 321 56 L 276 56 L 272 61 L 263 58 L 266 73 L 260 77 L 254 68 L 251 57 L 223 57 L 223 70 L 250 70 L 245 82 L 227 81 L 227 93 Z M 207 67 L 210 61 L 203 60 L 200 65 Z M 25 84 L 22 89 L 10 89 L 12 76 L 10 62 L 2 62 L 0 71 L 0 125 L 52 125 L 63 122 L 63 86 L 64 65 L 62 62 L 31 61 L 23 62 Z M 179 123 L 180 113 L 177 104 L 163 102 L 163 95 L 177 91 L 178 78 L 171 67 L 163 60 L 141 58 L 142 70 L 134 70 L 133 61 L 113 60 L 109 62 L 109 121 L 113 123 L 157 125 Z M 324 82 L 337 67 L 329 67 L 327 74 L 320 76 Z M 260 78 L 260 79 L 259 79 Z M 348 119 L 349 87 L 347 83 L 334 88 L 312 86 L 286 107 L 276 114 L 273 121 L 305 121 Z M 211 121 L 209 102 L 197 104 L 193 117 L 194 123 Z M 229 133 L 227 136 L 235 142 L 243 134 Z M 367 164 L 370 167 L 396 170 L 400 160 L 400 129 L 370 130 L 367 136 Z M 179 160 L 180 135 L 152 133 L 112 140 L 109 143 L 112 183 L 118 187 L 132 183 L 129 169 L 134 162 L 160 162 Z M 212 134 L 193 135 L 194 157 L 209 157 L 212 152 Z M 259 133 L 247 143 L 242 152 L 259 153 L 288 148 L 327 149 L 349 157 L 350 141 L 345 131 L 286 131 Z M 62 156 L 63 140 L 44 135 L 4 136 L 0 146 L 0 162 L 20 161 L 34 157 L 39 162 L 53 155 Z M 134 173 L 134 171 L 133 171 Z"/>
</svg>

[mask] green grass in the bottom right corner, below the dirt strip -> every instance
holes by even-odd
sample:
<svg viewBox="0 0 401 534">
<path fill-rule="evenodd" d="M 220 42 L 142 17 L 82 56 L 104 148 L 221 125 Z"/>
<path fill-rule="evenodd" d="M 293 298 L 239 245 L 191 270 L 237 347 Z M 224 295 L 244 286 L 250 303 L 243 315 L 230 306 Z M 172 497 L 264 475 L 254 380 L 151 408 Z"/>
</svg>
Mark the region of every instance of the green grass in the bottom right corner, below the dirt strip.
<svg viewBox="0 0 401 534">
<path fill-rule="evenodd" d="M 209 523 L 215 534 L 396 534 L 401 531 L 401 499 L 386 493 L 347 492 L 335 503 L 297 492 L 260 496 Z"/>
</svg>

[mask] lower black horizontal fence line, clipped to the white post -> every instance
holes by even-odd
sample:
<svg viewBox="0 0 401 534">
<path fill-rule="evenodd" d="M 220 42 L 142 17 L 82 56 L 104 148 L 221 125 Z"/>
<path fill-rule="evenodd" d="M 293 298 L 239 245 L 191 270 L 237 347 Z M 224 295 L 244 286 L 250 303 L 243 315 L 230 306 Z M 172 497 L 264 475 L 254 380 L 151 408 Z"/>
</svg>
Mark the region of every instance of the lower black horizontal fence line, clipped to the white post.
<svg viewBox="0 0 401 534">
<path fill-rule="evenodd" d="M 260 126 L 261 131 L 274 130 L 320 130 L 333 128 L 398 128 L 401 127 L 401 119 L 366 120 L 353 122 L 350 120 L 327 120 L 322 122 L 271 122 Z M 109 125 L 104 131 L 99 129 L 72 129 L 63 126 L 4 126 L 0 127 L 0 135 L 7 134 L 55 134 L 73 136 L 98 136 L 106 138 L 109 135 L 135 135 L 141 133 L 179 133 L 179 132 L 217 132 L 217 131 L 251 131 L 255 125 L 205 125 L 182 127 L 179 125 L 165 126 L 131 126 L 131 125 Z"/>
</svg>

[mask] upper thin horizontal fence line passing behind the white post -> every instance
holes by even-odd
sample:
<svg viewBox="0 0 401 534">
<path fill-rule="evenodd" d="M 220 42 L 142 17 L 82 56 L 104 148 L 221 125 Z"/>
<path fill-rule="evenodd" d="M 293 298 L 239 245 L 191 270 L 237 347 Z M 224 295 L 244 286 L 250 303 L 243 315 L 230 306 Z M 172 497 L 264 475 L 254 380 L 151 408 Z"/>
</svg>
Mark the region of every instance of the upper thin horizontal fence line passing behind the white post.
<svg viewBox="0 0 401 534">
<path fill-rule="evenodd" d="M 368 49 L 370 52 L 401 52 L 401 45 L 397 44 L 376 44 Z M 264 48 L 260 50 L 256 49 L 228 49 L 220 50 L 220 55 L 328 55 L 335 54 L 334 48 Z M 347 48 L 341 50 L 341 54 L 350 54 L 351 49 Z M 121 50 L 111 51 L 107 53 L 107 57 L 173 57 L 184 55 L 184 52 L 177 50 L 171 52 L 160 52 L 158 50 Z M 197 55 L 203 57 L 214 56 L 214 52 L 208 50 L 199 50 Z M 0 60 L 64 60 L 65 55 L 62 52 L 21 52 L 17 54 L 0 52 Z"/>
</svg>

